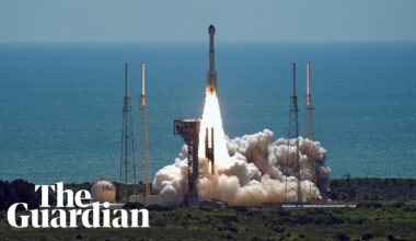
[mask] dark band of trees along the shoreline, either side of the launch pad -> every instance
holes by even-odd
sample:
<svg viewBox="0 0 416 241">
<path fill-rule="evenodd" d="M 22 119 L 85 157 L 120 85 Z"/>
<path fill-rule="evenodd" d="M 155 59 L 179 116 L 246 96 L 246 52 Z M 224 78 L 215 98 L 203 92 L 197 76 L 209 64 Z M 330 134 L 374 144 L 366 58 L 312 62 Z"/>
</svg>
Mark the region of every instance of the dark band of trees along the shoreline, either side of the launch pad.
<svg viewBox="0 0 416 241">
<path fill-rule="evenodd" d="M 65 184 L 66 188 L 74 192 L 90 190 L 91 183 Z M 117 187 L 120 184 L 116 183 Z M 142 193 L 145 185 L 128 185 L 117 188 L 117 195 L 122 193 Z M 331 180 L 331 193 L 328 196 L 337 202 L 378 202 L 378 203 L 404 203 L 416 202 L 416 179 L 353 179 L 345 177 Z M 49 194 L 49 200 L 55 203 L 55 194 Z M 14 203 L 27 203 L 28 208 L 37 208 L 41 205 L 41 193 L 35 192 L 35 184 L 24 180 L 0 181 L 0 210 L 5 210 Z"/>
</svg>

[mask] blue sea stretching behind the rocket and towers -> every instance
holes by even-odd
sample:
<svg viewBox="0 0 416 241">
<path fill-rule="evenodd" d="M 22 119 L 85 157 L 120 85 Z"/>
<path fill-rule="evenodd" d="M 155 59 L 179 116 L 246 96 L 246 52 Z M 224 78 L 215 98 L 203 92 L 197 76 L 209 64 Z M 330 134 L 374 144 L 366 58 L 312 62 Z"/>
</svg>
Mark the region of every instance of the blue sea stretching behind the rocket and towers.
<svg viewBox="0 0 416 241">
<path fill-rule="evenodd" d="M 287 136 L 292 61 L 303 133 L 312 61 L 315 139 L 331 176 L 416 177 L 416 43 L 218 43 L 216 57 L 230 138 Z M 183 145 L 173 119 L 201 115 L 207 43 L 0 44 L 0 180 L 117 180 L 124 62 L 137 131 L 141 61 L 154 175 Z"/>
</svg>

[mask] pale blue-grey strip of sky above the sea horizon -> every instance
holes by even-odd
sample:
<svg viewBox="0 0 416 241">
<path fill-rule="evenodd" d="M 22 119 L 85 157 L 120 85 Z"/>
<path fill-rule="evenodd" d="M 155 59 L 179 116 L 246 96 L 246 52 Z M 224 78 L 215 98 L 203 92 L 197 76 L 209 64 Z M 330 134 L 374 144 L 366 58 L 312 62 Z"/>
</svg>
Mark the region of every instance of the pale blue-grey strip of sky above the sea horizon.
<svg viewBox="0 0 416 241">
<path fill-rule="evenodd" d="M 414 0 L 0 0 L 0 42 L 416 41 Z"/>
</svg>

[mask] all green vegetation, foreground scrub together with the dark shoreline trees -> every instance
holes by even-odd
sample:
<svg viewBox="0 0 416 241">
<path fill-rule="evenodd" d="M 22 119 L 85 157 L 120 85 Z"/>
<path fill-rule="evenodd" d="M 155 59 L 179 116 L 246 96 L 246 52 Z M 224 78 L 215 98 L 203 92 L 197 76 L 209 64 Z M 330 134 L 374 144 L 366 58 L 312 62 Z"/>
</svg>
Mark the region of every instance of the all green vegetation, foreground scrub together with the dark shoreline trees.
<svg viewBox="0 0 416 241">
<path fill-rule="evenodd" d="M 0 182 L 0 240 L 416 240 L 416 205 L 411 202 L 416 199 L 416 180 L 345 179 L 333 180 L 331 186 L 331 197 L 358 202 L 357 208 L 151 206 L 148 229 L 15 229 L 7 221 L 5 207 L 26 198 L 36 207 L 38 199 L 36 193 L 26 193 L 34 187 L 31 183 Z M 66 187 L 89 190 L 91 184 Z M 127 204 L 125 208 L 141 206 Z"/>
</svg>

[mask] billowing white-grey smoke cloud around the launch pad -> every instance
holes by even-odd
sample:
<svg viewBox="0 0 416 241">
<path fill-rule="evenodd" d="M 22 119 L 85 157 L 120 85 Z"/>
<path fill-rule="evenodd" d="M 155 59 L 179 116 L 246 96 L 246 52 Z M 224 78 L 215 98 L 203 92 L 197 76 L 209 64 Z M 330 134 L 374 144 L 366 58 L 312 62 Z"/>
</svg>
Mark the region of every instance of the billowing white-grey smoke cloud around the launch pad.
<svg viewBox="0 0 416 241">
<path fill-rule="evenodd" d="M 253 135 L 227 139 L 230 160 L 208 174 L 207 160 L 200 159 L 197 182 L 199 200 L 216 199 L 231 206 L 259 206 L 262 203 L 297 202 L 298 173 L 296 139 L 273 139 L 268 129 Z M 298 138 L 300 158 L 300 187 L 303 202 L 321 199 L 320 190 L 330 191 L 331 169 L 325 165 L 326 150 L 319 141 Z M 313 170 L 315 167 L 316 171 Z M 316 173 L 317 186 L 313 183 Z M 175 163 L 161 169 L 154 177 L 160 204 L 183 203 L 187 188 L 187 147 Z M 286 195 L 285 195 L 286 194 Z"/>
</svg>

